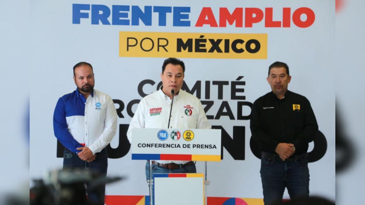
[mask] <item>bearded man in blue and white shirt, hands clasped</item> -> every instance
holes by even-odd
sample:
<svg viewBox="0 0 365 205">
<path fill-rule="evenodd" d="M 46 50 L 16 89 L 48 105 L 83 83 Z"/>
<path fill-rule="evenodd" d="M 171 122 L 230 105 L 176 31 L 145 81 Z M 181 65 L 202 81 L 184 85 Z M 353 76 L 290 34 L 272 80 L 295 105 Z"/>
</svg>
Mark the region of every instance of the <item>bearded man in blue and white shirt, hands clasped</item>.
<svg viewBox="0 0 365 205">
<path fill-rule="evenodd" d="M 65 168 L 87 168 L 107 174 L 106 146 L 113 139 L 117 114 L 110 96 L 94 89 L 94 73 L 90 63 L 73 67 L 77 89 L 58 99 L 53 115 L 54 135 L 65 146 Z M 88 190 L 88 198 L 104 204 L 102 196 Z"/>
</svg>

